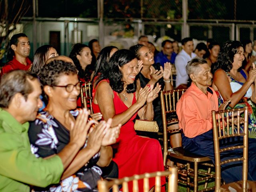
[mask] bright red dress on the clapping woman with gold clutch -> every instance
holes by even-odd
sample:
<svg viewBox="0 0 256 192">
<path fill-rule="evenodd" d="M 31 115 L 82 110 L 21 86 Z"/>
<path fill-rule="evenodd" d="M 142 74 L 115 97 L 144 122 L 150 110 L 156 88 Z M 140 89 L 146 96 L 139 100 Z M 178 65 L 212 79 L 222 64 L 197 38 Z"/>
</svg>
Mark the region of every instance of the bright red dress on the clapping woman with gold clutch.
<svg viewBox="0 0 256 192">
<path fill-rule="evenodd" d="M 103 80 L 106 81 L 106 80 Z M 97 89 L 97 87 L 96 87 Z M 116 114 L 120 114 L 128 109 L 124 102 L 119 98 L 118 93 L 114 92 L 114 107 Z M 136 97 L 132 100 L 132 104 L 136 102 Z M 94 112 L 100 112 L 99 106 L 92 103 Z M 134 174 L 144 174 L 146 172 L 156 172 L 164 170 L 161 146 L 156 139 L 144 138 L 136 135 L 134 130 L 135 113 L 128 122 L 126 122 L 120 130 L 119 138 L 117 139 L 117 152 L 113 158 L 118 165 L 119 178 L 125 176 L 133 176 Z M 139 191 L 143 191 L 143 180 L 139 181 Z M 154 178 L 149 180 L 150 188 L 155 185 Z M 162 178 L 162 185 L 165 184 L 165 178 Z M 132 191 L 132 182 L 128 184 L 129 191 Z M 165 188 L 162 187 L 162 191 Z"/>
</svg>

